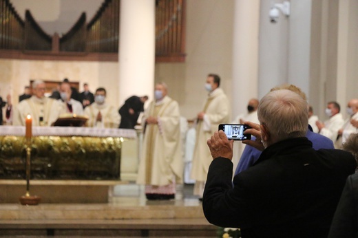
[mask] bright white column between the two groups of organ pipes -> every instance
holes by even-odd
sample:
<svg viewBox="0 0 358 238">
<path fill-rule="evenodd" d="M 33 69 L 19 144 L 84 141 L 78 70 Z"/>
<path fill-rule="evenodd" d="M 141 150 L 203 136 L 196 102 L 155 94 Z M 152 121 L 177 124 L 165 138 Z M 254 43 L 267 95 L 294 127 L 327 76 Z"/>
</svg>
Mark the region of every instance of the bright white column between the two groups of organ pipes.
<svg viewBox="0 0 358 238">
<path fill-rule="evenodd" d="M 154 95 L 155 1 L 121 0 L 119 104 L 132 95 Z M 114 86 L 115 87 L 115 86 Z"/>
</svg>

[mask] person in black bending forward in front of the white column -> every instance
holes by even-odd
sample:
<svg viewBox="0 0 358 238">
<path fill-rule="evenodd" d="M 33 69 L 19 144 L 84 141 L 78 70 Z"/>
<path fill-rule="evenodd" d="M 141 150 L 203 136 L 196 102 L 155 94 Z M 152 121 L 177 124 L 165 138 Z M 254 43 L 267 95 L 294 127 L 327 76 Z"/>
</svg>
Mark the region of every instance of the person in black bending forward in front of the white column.
<svg viewBox="0 0 358 238">
<path fill-rule="evenodd" d="M 119 128 L 134 129 L 140 112 L 144 111 L 144 103 L 147 100 L 148 96 L 131 96 L 125 100 L 125 104 L 118 110 L 121 117 Z"/>
</svg>

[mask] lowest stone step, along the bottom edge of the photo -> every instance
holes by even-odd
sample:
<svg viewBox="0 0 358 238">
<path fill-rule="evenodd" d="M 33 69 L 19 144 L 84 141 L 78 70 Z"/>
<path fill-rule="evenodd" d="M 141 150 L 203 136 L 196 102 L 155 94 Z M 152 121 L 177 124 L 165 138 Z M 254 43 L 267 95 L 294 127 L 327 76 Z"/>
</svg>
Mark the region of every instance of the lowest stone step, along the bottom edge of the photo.
<svg viewBox="0 0 358 238">
<path fill-rule="evenodd" d="M 1 221 L 1 236 L 36 237 L 216 237 L 206 219 L 10 220 Z"/>
</svg>

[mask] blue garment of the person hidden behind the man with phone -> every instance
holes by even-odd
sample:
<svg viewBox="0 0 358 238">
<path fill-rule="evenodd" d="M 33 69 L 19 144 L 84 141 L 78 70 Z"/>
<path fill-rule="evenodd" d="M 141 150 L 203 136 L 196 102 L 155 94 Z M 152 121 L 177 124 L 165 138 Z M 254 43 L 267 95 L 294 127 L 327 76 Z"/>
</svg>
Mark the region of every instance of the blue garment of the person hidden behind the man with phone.
<svg viewBox="0 0 358 238">
<path fill-rule="evenodd" d="M 330 140 L 330 138 L 322 136 L 319 133 L 313 132 L 312 127 L 310 127 L 310 125 L 308 125 L 306 137 L 308 138 L 308 140 L 310 140 L 310 142 L 312 142 L 312 147 L 316 151 L 319 149 L 335 149 L 333 141 Z M 252 136 L 251 140 L 255 140 L 255 136 Z M 256 160 L 258 160 L 258 158 L 260 157 L 261 153 L 262 151 L 259 151 L 254 147 L 246 145 L 244 151 L 242 152 L 239 164 L 236 167 L 235 175 L 253 166 Z"/>
</svg>

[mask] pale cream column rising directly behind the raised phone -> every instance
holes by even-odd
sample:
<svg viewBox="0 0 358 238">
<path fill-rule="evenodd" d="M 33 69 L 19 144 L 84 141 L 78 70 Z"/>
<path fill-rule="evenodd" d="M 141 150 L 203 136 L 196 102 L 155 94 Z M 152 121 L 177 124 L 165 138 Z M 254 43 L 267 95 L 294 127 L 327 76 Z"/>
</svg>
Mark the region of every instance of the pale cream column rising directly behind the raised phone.
<svg viewBox="0 0 358 238">
<path fill-rule="evenodd" d="M 233 24 L 233 118 L 257 98 L 260 0 L 235 0 Z"/>
</svg>

